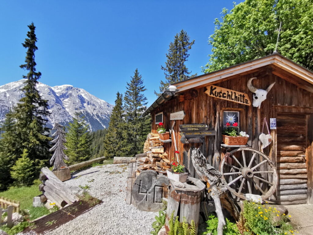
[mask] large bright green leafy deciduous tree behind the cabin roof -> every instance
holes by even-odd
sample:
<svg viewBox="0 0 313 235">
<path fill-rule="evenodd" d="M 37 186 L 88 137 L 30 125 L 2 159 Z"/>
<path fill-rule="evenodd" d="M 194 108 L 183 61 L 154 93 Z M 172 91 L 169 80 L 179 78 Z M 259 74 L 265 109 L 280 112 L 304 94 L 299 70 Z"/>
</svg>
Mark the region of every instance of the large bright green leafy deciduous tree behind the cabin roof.
<svg viewBox="0 0 313 235">
<path fill-rule="evenodd" d="M 313 69 L 313 2 L 311 0 L 246 0 L 215 19 L 209 38 L 208 73 L 275 52 Z"/>
</svg>

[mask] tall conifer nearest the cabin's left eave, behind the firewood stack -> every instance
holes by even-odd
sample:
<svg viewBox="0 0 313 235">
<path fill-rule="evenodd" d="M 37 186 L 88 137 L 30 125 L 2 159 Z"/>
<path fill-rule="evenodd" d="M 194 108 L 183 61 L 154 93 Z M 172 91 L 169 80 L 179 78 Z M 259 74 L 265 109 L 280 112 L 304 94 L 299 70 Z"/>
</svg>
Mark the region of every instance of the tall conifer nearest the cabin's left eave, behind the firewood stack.
<svg viewBox="0 0 313 235">
<path fill-rule="evenodd" d="M 124 96 L 124 112 L 126 123 L 123 126 L 123 151 L 124 156 L 134 156 L 143 150 L 147 134 L 151 130 L 151 118 L 141 117 L 146 109 L 147 98 L 143 94 L 146 91 L 143 80 L 138 72 L 134 72 L 130 83 L 127 82 Z"/>
</svg>

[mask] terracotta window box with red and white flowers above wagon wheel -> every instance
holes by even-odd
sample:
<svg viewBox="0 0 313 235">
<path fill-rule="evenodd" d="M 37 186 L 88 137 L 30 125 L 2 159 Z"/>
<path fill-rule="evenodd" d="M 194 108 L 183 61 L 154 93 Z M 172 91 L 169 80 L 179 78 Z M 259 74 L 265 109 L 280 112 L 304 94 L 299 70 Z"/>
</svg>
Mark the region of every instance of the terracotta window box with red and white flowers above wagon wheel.
<svg viewBox="0 0 313 235">
<path fill-rule="evenodd" d="M 238 134 L 237 126 L 238 123 L 234 123 L 233 127 L 230 127 L 229 123 L 226 123 L 226 128 L 224 128 L 222 137 L 223 143 L 227 145 L 246 145 L 248 142 L 249 135 L 241 131 Z"/>
</svg>

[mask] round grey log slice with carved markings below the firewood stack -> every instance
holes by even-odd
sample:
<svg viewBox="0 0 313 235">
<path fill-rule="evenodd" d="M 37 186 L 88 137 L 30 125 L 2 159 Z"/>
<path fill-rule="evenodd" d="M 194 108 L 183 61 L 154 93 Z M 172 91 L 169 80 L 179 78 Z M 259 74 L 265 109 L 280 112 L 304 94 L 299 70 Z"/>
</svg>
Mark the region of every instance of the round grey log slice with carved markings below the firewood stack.
<svg viewBox="0 0 313 235">
<path fill-rule="evenodd" d="M 157 212 L 162 209 L 162 198 L 168 197 L 169 180 L 154 170 L 147 170 L 137 176 L 131 196 L 134 205 L 141 211 Z"/>
</svg>

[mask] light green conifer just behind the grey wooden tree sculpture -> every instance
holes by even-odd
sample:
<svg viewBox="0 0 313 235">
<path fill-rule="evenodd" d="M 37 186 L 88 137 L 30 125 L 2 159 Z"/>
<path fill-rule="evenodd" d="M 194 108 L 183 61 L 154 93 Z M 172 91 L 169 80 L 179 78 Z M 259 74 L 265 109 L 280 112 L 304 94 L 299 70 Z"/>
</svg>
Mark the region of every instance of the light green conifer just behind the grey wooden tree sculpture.
<svg viewBox="0 0 313 235">
<path fill-rule="evenodd" d="M 90 135 L 89 125 L 85 122 L 85 116 L 81 112 L 74 113 L 73 123 L 69 123 L 66 133 L 64 153 L 69 156 L 68 164 L 76 164 L 90 158 Z"/>
</svg>

